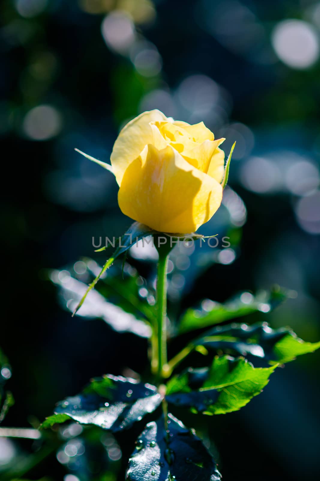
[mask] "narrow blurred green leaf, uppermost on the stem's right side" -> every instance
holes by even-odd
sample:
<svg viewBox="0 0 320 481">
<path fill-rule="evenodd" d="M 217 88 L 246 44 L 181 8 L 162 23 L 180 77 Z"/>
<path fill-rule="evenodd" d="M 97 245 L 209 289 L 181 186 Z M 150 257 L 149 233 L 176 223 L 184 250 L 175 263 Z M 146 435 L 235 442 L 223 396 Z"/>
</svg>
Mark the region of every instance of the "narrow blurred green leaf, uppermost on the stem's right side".
<svg viewBox="0 0 320 481">
<path fill-rule="evenodd" d="M 256 296 L 249 292 L 242 292 L 225 304 L 204 301 L 201 309 L 188 309 L 185 312 L 179 322 L 179 333 L 213 326 L 258 311 L 270 312 L 286 299 L 286 292 L 277 287 L 268 293 L 262 292 Z"/>
</svg>

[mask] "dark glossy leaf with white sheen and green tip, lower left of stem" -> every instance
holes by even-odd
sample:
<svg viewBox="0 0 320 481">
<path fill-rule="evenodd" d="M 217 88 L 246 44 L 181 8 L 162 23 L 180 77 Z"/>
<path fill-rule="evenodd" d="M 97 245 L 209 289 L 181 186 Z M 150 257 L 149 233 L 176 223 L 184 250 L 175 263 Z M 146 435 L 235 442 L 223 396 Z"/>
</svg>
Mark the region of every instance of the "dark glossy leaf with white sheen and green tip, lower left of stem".
<svg viewBox="0 0 320 481">
<path fill-rule="evenodd" d="M 92 380 L 82 393 L 58 403 L 55 415 L 47 418 L 42 426 L 72 418 L 80 424 L 94 424 L 116 432 L 130 428 L 152 413 L 161 401 L 161 394 L 151 384 L 108 374 Z"/>
</svg>

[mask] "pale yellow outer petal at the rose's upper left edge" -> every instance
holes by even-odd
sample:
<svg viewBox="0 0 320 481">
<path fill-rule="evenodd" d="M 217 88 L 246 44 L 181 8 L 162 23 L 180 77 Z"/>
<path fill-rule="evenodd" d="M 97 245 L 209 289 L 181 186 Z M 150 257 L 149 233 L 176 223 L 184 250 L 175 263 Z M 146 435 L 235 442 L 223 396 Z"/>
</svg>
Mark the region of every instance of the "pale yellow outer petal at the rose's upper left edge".
<svg viewBox="0 0 320 481">
<path fill-rule="evenodd" d="M 159 110 L 151 110 L 138 115 L 120 131 L 110 157 L 113 172 L 119 185 L 121 185 L 127 167 L 140 155 L 144 146 L 153 141 L 153 133 L 149 123 L 166 120 L 165 114 Z"/>
</svg>

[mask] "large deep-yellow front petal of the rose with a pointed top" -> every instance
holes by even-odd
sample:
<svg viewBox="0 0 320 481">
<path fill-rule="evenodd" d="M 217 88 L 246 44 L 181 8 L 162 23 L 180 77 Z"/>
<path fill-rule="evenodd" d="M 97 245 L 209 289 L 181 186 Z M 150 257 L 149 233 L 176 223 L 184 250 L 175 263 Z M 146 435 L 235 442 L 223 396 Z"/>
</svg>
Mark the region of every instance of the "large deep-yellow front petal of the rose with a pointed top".
<svg viewBox="0 0 320 481">
<path fill-rule="evenodd" d="M 171 146 L 148 145 L 127 168 L 118 194 L 125 215 L 160 232 L 190 233 L 220 206 L 222 187 Z"/>
</svg>

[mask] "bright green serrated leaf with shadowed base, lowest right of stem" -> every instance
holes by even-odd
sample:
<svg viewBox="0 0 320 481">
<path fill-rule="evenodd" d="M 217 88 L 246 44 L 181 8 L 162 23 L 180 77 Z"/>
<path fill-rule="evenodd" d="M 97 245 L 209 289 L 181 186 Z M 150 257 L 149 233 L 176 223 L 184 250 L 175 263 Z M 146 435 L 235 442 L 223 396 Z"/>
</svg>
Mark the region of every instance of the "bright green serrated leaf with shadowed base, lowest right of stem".
<svg viewBox="0 0 320 481">
<path fill-rule="evenodd" d="M 202 414 L 237 411 L 260 394 L 275 367 L 255 368 L 244 358 L 216 357 L 210 368 L 189 368 L 170 380 L 166 400 Z"/>
</svg>

